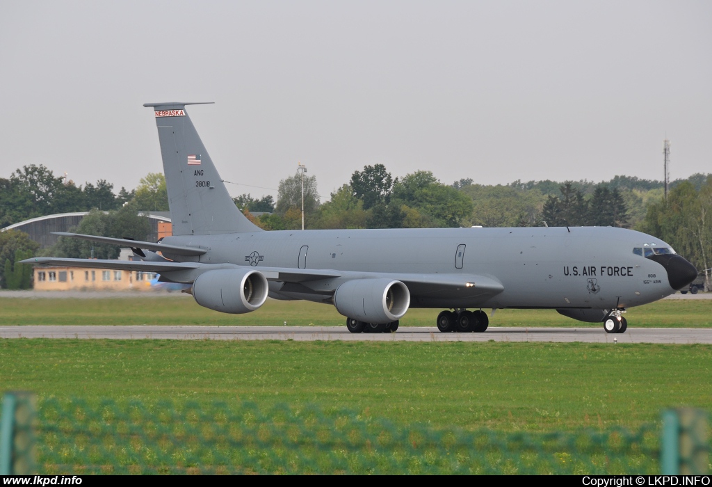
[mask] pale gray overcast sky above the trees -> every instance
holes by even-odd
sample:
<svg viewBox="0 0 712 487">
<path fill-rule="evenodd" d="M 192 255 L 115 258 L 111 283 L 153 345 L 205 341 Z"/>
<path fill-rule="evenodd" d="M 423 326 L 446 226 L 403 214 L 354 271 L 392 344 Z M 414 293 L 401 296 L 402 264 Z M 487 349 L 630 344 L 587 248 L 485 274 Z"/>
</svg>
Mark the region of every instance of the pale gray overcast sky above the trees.
<svg viewBox="0 0 712 487">
<path fill-rule="evenodd" d="M 231 194 L 298 162 L 451 184 L 712 172 L 709 1 L 0 1 L 0 177 L 162 172 L 189 107 Z"/>
</svg>

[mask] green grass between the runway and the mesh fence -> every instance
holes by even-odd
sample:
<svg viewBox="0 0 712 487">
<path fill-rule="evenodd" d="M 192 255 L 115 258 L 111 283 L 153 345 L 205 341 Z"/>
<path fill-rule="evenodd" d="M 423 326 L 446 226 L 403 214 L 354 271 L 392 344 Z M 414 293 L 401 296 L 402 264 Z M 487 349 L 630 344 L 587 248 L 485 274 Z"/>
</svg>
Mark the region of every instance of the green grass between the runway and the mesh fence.
<svg viewBox="0 0 712 487">
<path fill-rule="evenodd" d="M 41 397 L 316 403 L 399 424 L 634 428 L 709 409 L 712 346 L 0 340 L 0 390 Z"/>
</svg>

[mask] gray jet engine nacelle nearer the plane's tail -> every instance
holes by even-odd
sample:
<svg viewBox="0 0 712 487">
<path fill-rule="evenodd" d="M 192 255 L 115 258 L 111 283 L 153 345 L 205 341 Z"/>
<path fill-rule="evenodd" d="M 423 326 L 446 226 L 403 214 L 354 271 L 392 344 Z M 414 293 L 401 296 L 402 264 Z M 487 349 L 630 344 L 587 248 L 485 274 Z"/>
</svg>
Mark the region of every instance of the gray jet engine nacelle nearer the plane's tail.
<svg viewBox="0 0 712 487">
<path fill-rule="evenodd" d="M 193 283 L 196 302 L 222 313 L 249 313 L 267 299 L 267 279 L 258 271 L 216 269 Z"/>
</svg>

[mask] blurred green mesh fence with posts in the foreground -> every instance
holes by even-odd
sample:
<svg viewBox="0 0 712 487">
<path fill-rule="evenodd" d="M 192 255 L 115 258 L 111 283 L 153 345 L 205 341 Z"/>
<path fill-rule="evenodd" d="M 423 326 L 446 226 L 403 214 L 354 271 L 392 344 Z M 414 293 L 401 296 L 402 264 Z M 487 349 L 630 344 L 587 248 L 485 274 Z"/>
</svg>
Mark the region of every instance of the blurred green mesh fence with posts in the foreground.
<svg viewBox="0 0 712 487">
<path fill-rule="evenodd" d="M 634 431 L 506 433 L 405 427 L 318 407 L 80 399 L 35 404 L 31 394 L 9 393 L 0 474 L 706 471 L 706 415 L 665 414 L 662 431 L 649 424 Z"/>
</svg>

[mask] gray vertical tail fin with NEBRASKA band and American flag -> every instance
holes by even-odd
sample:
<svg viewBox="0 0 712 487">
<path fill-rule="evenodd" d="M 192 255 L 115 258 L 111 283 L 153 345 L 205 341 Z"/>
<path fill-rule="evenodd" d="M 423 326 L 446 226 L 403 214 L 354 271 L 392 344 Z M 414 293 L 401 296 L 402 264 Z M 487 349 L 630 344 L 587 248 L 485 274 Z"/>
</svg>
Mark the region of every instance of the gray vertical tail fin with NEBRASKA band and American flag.
<svg viewBox="0 0 712 487">
<path fill-rule="evenodd" d="M 260 231 L 235 206 L 201 142 L 186 105 L 145 103 L 155 110 L 174 235 Z"/>
</svg>

